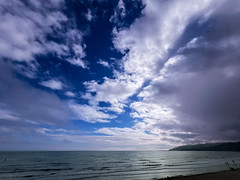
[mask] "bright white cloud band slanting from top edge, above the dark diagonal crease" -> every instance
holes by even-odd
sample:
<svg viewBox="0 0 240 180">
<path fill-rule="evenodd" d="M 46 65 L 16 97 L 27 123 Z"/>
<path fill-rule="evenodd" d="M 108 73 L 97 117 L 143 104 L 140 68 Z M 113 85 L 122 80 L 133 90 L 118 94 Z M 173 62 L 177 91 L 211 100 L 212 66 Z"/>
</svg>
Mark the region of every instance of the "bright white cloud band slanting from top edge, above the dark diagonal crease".
<svg viewBox="0 0 240 180">
<path fill-rule="evenodd" d="M 129 29 L 113 30 L 115 48 L 125 53 L 122 58 L 123 72 L 115 72 L 115 78 L 105 78 L 102 84 L 86 82 L 85 98 L 90 103 L 108 102 L 115 112 L 123 112 L 128 98 L 141 88 L 146 80 L 159 76 L 168 51 L 194 18 L 208 12 L 211 3 L 205 1 L 146 1 L 144 16 L 137 19 Z M 124 15 L 124 3 L 118 8 Z M 182 11 L 184 9 L 184 12 Z M 179 16 L 181 14 L 181 16 Z M 104 62 L 102 62 L 103 64 Z"/>
</svg>

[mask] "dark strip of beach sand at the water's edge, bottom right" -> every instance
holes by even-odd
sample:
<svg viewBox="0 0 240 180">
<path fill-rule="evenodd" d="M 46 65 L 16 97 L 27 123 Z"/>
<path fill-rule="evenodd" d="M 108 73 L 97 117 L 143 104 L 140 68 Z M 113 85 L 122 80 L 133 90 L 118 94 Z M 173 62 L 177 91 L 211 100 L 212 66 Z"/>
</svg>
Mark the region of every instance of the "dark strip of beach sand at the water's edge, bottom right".
<svg viewBox="0 0 240 180">
<path fill-rule="evenodd" d="M 164 178 L 162 180 L 240 180 L 240 169 L 235 171 L 222 171 L 214 173 L 206 173 L 192 176 L 179 176 L 172 178 Z"/>
</svg>

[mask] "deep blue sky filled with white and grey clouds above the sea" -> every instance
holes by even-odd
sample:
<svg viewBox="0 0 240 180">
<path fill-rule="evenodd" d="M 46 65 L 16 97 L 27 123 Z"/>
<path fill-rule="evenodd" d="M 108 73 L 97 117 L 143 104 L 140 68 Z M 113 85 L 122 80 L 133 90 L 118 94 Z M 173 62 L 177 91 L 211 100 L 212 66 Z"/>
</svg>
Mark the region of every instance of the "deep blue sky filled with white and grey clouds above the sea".
<svg viewBox="0 0 240 180">
<path fill-rule="evenodd" d="M 239 141 L 239 7 L 0 1 L 0 150 Z"/>
</svg>

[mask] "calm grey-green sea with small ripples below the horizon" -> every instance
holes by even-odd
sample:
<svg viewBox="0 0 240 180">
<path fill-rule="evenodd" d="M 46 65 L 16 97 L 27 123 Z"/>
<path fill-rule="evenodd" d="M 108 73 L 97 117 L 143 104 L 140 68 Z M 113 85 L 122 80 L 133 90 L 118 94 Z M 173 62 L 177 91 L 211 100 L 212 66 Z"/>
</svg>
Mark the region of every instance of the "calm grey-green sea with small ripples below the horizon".
<svg viewBox="0 0 240 180">
<path fill-rule="evenodd" d="M 227 170 L 237 152 L 0 152 L 0 179 L 153 179 Z"/>
</svg>

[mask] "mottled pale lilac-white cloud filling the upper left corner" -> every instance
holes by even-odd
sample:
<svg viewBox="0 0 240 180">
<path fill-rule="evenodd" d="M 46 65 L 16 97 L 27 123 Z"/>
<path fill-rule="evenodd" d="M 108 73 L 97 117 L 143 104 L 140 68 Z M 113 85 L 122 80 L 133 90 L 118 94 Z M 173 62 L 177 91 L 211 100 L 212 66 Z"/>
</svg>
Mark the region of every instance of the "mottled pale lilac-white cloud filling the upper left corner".
<svg viewBox="0 0 240 180">
<path fill-rule="evenodd" d="M 59 1 L 59 4 L 61 2 Z M 44 53 L 46 41 L 45 35 L 51 33 L 54 28 L 59 28 L 60 23 L 67 18 L 58 11 L 58 3 L 40 3 L 31 1 L 25 6 L 21 1 L 3 1 L 0 4 L 0 46 L 2 57 L 19 61 L 30 61 L 35 54 Z M 49 6 L 54 10 L 50 10 Z M 34 9 L 34 10 L 33 10 Z M 46 16 L 47 14 L 47 16 Z"/>
</svg>

